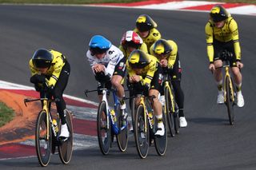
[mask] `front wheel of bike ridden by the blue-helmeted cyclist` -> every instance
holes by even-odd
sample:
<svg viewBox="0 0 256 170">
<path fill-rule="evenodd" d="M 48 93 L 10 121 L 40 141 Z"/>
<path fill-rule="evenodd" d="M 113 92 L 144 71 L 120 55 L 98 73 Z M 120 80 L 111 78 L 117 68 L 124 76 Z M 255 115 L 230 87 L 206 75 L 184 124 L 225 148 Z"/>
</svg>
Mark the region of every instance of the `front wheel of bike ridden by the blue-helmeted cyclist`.
<svg viewBox="0 0 256 170">
<path fill-rule="evenodd" d="M 107 121 L 106 102 L 102 101 L 98 106 L 97 115 L 97 132 L 98 132 L 98 145 L 103 155 L 110 152 L 111 143 L 111 127 L 110 121 Z"/>
</svg>

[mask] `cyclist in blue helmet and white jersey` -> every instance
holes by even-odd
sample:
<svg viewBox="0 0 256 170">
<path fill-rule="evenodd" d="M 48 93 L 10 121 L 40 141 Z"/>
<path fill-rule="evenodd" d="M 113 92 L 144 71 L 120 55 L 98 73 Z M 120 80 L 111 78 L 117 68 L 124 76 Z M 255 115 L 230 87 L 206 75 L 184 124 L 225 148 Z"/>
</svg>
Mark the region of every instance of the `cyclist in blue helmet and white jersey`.
<svg viewBox="0 0 256 170">
<path fill-rule="evenodd" d="M 98 89 L 105 84 L 107 89 L 113 85 L 117 89 L 117 95 L 121 102 L 122 118 L 126 119 L 126 103 L 123 100 L 125 91 L 122 85 L 122 79 L 126 73 L 126 58 L 118 47 L 101 35 L 94 35 L 90 39 L 89 50 L 86 57 L 90 63 L 91 69 L 98 81 Z M 102 92 L 98 90 L 98 96 L 102 101 Z"/>
</svg>

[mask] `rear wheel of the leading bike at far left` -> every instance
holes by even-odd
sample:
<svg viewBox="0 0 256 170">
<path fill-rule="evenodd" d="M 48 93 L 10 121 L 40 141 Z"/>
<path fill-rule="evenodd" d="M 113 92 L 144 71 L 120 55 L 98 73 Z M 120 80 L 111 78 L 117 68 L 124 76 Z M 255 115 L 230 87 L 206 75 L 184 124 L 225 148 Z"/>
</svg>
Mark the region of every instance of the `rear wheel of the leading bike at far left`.
<svg viewBox="0 0 256 170">
<path fill-rule="evenodd" d="M 58 155 L 63 164 L 69 164 L 73 152 L 73 124 L 72 116 L 68 111 L 66 112 L 66 125 L 69 129 L 70 137 L 58 146 Z M 58 129 L 60 129 L 60 124 Z"/>
</svg>

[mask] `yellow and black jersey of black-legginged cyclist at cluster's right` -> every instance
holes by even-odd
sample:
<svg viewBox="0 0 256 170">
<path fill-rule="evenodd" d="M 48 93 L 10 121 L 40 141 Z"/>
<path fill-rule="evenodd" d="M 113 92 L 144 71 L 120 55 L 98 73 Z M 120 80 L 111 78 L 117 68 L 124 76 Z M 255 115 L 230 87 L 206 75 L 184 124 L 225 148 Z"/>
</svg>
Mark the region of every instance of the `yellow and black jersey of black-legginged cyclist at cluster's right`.
<svg viewBox="0 0 256 170">
<path fill-rule="evenodd" d="M 168 42 L 168 44 L 171 46 L 171 49 L 172 49 L 170 52 L 170 56 L 168 56 L 168 69 L 172 69 L 176 61 L 176 57 L 178 53 L 178 45 L 172 40 L 167 40 L 166 42 Z M 151 45 L 150 47 L 151 55 L 154 55 L 153 48 L 154 48 L 154 45 Z"/>
</svg>

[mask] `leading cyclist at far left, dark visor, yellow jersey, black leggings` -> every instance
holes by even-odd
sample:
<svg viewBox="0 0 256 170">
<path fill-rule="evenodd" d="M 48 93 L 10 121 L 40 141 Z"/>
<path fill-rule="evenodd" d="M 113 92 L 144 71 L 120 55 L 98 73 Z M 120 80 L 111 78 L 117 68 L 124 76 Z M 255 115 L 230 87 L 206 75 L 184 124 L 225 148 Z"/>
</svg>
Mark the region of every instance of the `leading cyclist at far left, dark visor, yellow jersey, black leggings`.
<svg viewBox="0 0 256 170">
<path fill-rule="evenodd" d="M 44 96 L 42 87 L 46 85 L 48 92 L 54 97 L 59 117 L 62 121 L 61 137 L 69 137 L 70 132 L 66 125 L 66 102 L 62 95 L 70 77 L 70 64 L 66 57 L 53 49 L 38 49 L 30 59 L 30 82 L 35 89 Z"/>
</svg>

